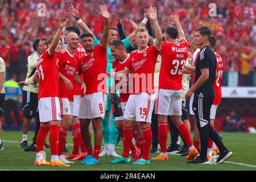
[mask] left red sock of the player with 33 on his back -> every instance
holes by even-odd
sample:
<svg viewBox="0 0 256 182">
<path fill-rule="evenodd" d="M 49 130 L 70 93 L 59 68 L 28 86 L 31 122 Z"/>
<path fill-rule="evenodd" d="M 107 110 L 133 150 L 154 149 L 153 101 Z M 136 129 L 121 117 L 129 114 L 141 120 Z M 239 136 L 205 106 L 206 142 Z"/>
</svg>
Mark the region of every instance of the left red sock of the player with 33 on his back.
<svg viewBox="0 0 256 182">
<path fill-rule="evenodd" d="M 164 123 L 164 122 L 158 123 L 158 138 L 159 138 L 161 152 L 167 152 L 167 138 L 168 138 L 167 123 Z"/>
</svg>

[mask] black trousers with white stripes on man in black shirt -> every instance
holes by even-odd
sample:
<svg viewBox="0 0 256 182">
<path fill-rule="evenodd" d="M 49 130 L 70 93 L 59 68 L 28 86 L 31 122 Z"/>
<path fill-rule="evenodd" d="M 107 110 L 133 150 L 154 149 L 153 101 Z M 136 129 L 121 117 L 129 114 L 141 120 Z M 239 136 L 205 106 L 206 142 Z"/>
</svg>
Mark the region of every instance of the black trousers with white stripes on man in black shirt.
<svg viewBox="0 0 256 182">
<path fill-rule="evenodd" d="M 199 97 L 195 96 L 193 101 L 193 111 L 196 115 L 197 128 L 199 129 L 201 150 L 200 158 L 207 159 L 208 138 L 210 137 L 213 142 L 218 146 L 220 152 L 224 152 L 226 147 L 218 137 L 217 132 L 210 126 L 210 107 L 214 96 Z"/>
</svg>

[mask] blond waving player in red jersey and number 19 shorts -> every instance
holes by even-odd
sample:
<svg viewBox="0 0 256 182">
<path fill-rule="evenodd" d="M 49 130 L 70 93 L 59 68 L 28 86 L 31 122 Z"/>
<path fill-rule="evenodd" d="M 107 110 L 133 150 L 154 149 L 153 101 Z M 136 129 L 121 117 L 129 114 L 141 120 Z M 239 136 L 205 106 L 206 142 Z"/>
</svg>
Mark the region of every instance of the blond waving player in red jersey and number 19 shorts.
<svg viewBox="0 0 256 182">
<path fill-rule="evenodd" d="M 154 108 L 154 71 L 156 59 L 162 43 L 162 32 L 156 20 L 156 9 L 150 7 L 149 18 L 154 27 L 156 39 L 154 45 L 147 46 L 149 36 L 146 28 L 139 27 L 135 31 L 138 50 L 131 52 L 123 71 L 111 73 L 113 77 L 123 77 L 133 73 L 133 89 L 129 89 L 130 97 L 125 110 L 123 122 L 123 155 L 111 163 L 130 163 L 129 151 L 133 139 L 133 123 L 139 122 L 143 131 L 144 154 L 133 164 L 150 164 L 149 151 L 152 141 L 150 128 L 152 109 Z M 122 74 L 120 74 L 122 73 Z"/>
</svg>

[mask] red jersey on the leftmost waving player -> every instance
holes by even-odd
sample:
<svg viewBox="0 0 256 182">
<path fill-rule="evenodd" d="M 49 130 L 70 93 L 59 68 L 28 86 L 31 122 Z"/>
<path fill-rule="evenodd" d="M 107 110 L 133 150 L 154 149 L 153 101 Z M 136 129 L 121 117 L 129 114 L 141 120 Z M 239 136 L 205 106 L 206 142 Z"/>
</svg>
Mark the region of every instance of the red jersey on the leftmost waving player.
<svg viewBox="0 0 256 182">
<path fill-rule="evenodd" d="M 38 100 L 43 97 L 59 97 L 59 68 L 56 53 L 49 55 L 46 49 L 38 59 L 36 70 L 40 77 Z"/>
</svg>

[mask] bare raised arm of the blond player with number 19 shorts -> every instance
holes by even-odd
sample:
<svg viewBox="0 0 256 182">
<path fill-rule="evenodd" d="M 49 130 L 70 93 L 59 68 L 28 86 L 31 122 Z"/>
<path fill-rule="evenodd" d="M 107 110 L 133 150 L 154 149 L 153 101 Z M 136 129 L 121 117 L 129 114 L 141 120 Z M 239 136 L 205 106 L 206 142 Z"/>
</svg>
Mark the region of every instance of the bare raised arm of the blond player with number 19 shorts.
<svg viewBox="0 0 256 182">
<path fill-rule="evenodd" d="M 156 9 L 155 7 L 150 7 L 148 11 L 150 13 L 149 18 L 152 26 L 154 27 L 155 35 L 156 35 L 154 46 L 156 49 L 160 50 L 162 46 L 163 35 L 162 35 L 161 28 L 159 27 L 158 21 L 156 20 L 157 18 Z"/>
</svg>

